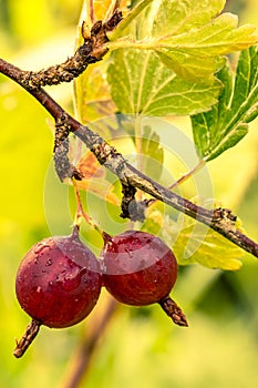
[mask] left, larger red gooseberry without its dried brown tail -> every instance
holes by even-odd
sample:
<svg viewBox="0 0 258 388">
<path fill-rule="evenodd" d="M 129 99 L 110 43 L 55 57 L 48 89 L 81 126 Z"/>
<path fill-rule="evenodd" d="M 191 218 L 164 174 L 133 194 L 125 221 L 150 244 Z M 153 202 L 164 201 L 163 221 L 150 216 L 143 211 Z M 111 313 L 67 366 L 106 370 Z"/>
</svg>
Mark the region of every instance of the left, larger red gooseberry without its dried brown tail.
<svg viewBox="0 0 258 388">
<path fill-rule="evenodd" d="M 76 228 L 71 236 L 45 238 L 21 262 L 16 292 L 21 307 L 39 325 L 75 325 L 91 313 L 100 296 L 99 262 L 81 243 Z"/>
</svg>

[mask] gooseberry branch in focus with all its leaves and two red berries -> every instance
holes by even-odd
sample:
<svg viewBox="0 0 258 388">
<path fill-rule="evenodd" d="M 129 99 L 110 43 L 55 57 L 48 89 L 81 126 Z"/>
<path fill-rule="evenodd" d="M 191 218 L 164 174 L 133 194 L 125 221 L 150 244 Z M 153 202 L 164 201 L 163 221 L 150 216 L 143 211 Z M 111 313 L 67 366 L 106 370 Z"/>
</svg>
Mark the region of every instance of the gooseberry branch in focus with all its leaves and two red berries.
<svg viewBox="0 0 258 388">
<path fill-rule="evenodd" d="M 33 72 L 0 59 L 0 72 L 54 119 L 56 176 L 74 187 L 76 198 L 73 233 L 35 242 L 18 268 L 17 297 L 32 320 L 17 343 L 16 357 L 41 325 L 63 328 L 86 318 L 102 287 L 125 305 L 157 303 L 176 325 L 187 326 L 169 296 L 179 266 L 236 270 L 244 251 L 258 257 L 258 244 L 244 232 L 230 204 L 199 197 L 198 191 L 195 198 L 186 197 L 182 188 L 209 161 L 237 146 L 258 115 L 257 30 L 238 27 L 237 17 L 223 11 L 225 3 L 89 0 L 74 55 L 65 62 Z M 71 81 L 75 118 L 44 90 Z M 157 129 L 163 124 L 149 118 L 166 118 L 169 143 L 168 123 L 177 116 L 189 119 L 194 146 L 189 151 L 186 137 L 176 144 L 174 136 L 173 151 L 185 147 L 185 157 L 195 152 L 196 164 L 168 182 L 165 169 L 172 166 L 165 165 L 164 136 Z M 125 156 L 116 151 L 117 133 L 127 136 Z M 117 216 L 130 219 L 126 229 L 111 236 L 102 219 L 84 211 L 91 206 L 80 192 L 116 206 Z M 102 237 L 99 257 L 83 235 L 83 223 Z"/>
</svg>

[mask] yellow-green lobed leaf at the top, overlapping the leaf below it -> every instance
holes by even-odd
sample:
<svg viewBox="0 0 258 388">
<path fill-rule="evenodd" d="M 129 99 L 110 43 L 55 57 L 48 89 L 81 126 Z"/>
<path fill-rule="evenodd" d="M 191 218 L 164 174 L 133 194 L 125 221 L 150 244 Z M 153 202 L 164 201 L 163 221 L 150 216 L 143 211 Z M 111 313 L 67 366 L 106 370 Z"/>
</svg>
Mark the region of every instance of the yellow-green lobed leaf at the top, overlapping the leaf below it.
<svg viewBox="0 0 258 388">
<path fill-rule="evenodd" d="M 193 82 L 215 81 L 225 63 L 223 55 L 258 42 L 256 27 L 238 28 L 238 18 L 219 14 L 225 1 L 163 0 L 153 2 L 135 19 L 127 37 L 111 43 L 111 50 L 152 50 L 180 78 Z"/>
</svg>

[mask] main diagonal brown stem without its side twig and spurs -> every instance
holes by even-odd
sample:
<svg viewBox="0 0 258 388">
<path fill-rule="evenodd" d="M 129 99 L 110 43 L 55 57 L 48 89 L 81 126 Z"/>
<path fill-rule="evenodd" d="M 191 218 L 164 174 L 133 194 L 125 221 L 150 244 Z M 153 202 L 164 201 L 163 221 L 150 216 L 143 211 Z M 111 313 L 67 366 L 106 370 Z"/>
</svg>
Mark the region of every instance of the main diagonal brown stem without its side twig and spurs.
<svg viewBox="0 0 258 388">
<path fill-rule="evenodd" d="M 238 245 L 246 252 L 258 257 L 258 244 L 236 229 L 235 219 L 230 212 L 218 212 L 206 210 L 190 201 L 171 192 L 157 182 L 151 180 L 145 174 L 133 167 L 127 161 L 97 133 L 82 125 L 69 115 L 43 89 L 31 89 L 21 83 L 21 70 L 0 59 L 0 72 L 13 81 L 21 84 L 31 95 L 33 95 L 44 109 L 54 118 L 55 122 L 65 116 L 65 129 L 80 137 L 86 146 L 94 153 L 101 164 L 118 176 L 122 185 L 131 185 L 143 192 L 151 194 L 175 210 L 210 226 L 214 231 Z M 236 218 L 236 217 L 235 217 Z"/>
</svg>

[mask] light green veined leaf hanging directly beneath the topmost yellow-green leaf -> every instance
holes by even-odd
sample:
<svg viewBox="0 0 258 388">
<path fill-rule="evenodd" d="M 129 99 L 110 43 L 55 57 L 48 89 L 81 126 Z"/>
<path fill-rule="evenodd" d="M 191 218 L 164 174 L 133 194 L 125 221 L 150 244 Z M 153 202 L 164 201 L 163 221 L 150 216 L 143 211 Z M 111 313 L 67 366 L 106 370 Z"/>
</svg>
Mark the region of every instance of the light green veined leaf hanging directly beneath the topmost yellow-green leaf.
<svg viewBox="0 0 258 388">
<path fill-rule="evenodd" d="M 220 82 L 182 80 L 146 50 L 117 50 L 107 70 L 111 94 L 122 113 L 194 114 L 216 103 Z"/>
</svg>

